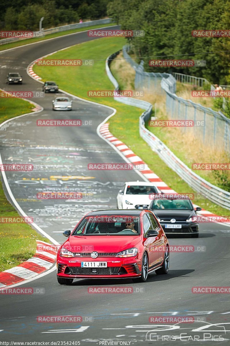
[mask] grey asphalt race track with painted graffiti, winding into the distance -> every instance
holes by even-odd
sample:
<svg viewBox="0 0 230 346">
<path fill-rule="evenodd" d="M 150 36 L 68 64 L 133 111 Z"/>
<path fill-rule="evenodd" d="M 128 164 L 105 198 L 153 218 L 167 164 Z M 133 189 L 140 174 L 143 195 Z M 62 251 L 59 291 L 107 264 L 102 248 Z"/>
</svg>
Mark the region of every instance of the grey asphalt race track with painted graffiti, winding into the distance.
<svg viewBox="0 0 230 346">
<path fill-rule="evenodd" d="M 0 88 L 7 91 L 41 91 L 41 83 L 26 73 L 27 65 L 57 49 L 91 40 L 76 33 L 48 42 L 0 53 Z M 112 52 L 111 52 L 112 53 Z M 6 85 L 14 69 L 23 75 L 22 85 Z M 5 67 L 4 67 L 5 66 Z M 27 215 L 60 244 L 63 230 L 72 229 L 86 212 L 116 208 L 123 182 L 141 180 L 135 171 L 89 171 L 88 163 L 123 163 L 123 159 L 96 132 L 112 110 L 73 98 L 71 112 L 52 111 L 53 94 L 34 99 L 40 113 L 9 121 L 0 128 L 3 163 L 31 163 L 31 172 L 6 172 L 11 191 Z M 38 127 L 37 119 L 92 120 L 91 126 Z M 38 192 L 80 191 L 80 200 L 37 200 Z M 90 197 L 87 194 L 90 193 Z M 7 192 L 6 192 L 6 195 Z M 71 286 L 57 283 L 56 272 L 18 287 L 42 288 L 43 294 L 0 295 L 0 341 L 80 342 L 80 345 L 173 345 L 206 340 L 207 345 L 228 345 L 230 305 L 228 294 L 193 294 L 193 286 L 228 286 L 230 228 L 200 224 L 200 237 L 169 238 L 170 245 L 194 245 L 198 251 L 171 253 L 168 275 L 150 274 L 146 283 L 131 280 L 74 280 Z M 203 247 L 203 251 L 199 251 Z M 131 294 L 89 294 L 89 286 L 131 287 Z M 37 316 L 83 316 L 79 323 L 41 323 Z M 150 316 L 191 316 L 193 323 L 149 323 Z M 77 334 L 76 334 L 77 333 Z M 148 334 L 147 334 L 148 333 Z M 154 334 L 155 333 L 155 334 Z M 147 334 L 147 337 L 146 337 Z M 195 338 L 196 337 L 196 338 Z M 218 340 L 219 339 L 219 340 Z M 152 340 L 152 341 L 150 341 Z M 107 344 L 103 344 L 107 342 Z M 144 343 L 143 343 L 144 342 Z M 13 345 L 13 344 L 11 344 Z M 52 345 L 52 344 L 50 344 Z M 110 343 L 113 345 L 113 343 Z"/>
</svg>

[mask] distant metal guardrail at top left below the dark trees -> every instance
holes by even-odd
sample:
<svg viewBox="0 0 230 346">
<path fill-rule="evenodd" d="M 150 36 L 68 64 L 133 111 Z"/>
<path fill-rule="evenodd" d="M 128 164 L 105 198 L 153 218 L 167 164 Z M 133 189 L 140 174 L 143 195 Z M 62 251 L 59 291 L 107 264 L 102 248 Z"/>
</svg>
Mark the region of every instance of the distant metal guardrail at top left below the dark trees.
<svg viewBox="0 0 230 346">
<path fill-rule="evenodd" d="M 90 20 L 90 21 L 82 22 L 82 23 L 75 23 L 75 24 L 58 26 L 56 28 L 46 29 L 46 30 L 42 30 L 42 31 L 33 31 L 33 33 L 34 33 L 34 35 L 38 35 L 37 37 L 39 37 L 41 34 L 46 36 L 46 35 L 49 35 L 49 34 L 59 33 L 59 32 L 62 32 L 62 31 L 67 31 L 67 30 L 72 30 L 72 29 L 77 29 L 77 28 L 85 28 L 85 27 L 88 27 L 88 26 L 93 26 L 93 25 L 98 25 L 98 24 L 109 24 L 111 22 L 112 22 L 112 18 Z M 40 36 L 40 37 L 42 37 L 42 36 Z M 20 40 L 25 40 L 25 39 L 28 39 L 28 38 L 29 37 L 9 37 L 9 38 L 3 38 L 3 39 L 0 39 L 0 45 L 7 44 L 7 43 L 10 43 L 10 42 L 16 42 L 16 41 L 20 41 Z"/>
</svg>

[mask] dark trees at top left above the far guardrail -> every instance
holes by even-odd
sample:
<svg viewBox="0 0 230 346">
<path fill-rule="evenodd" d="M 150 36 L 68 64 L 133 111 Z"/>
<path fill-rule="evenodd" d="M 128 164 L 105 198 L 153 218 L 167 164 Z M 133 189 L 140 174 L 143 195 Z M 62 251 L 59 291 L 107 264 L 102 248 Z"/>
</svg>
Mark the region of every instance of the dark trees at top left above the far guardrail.
<svg viewBox="0 0 230 346">
<path fill-rule="evenodd" d="M 79 19 L 99 19 L 107 15 L 109 0 L 2 0 L 1 28 L 5 30 L 38 30 L 78 22 Z"/>
</svg>

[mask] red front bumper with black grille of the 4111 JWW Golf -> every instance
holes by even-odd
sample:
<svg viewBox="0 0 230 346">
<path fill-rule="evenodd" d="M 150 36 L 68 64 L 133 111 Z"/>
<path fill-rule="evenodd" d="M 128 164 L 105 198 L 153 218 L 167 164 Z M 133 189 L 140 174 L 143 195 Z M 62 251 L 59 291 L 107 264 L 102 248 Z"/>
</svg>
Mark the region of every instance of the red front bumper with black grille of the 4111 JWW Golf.
<svg viewBox="0 0 230 346">
<path fill-rule="evenodd" d="M 100 257 L 97 261 L 91 257 L 60 257 L 57 259 L 57 276 L 65 278 L 122 279 L 141 275 L 141 257 L 138 256 Z M 106 268 L 82 268 L 81 262 L 107 262 Z M 97 271 L 97 272 L 96 272 Z"/>
</svg>

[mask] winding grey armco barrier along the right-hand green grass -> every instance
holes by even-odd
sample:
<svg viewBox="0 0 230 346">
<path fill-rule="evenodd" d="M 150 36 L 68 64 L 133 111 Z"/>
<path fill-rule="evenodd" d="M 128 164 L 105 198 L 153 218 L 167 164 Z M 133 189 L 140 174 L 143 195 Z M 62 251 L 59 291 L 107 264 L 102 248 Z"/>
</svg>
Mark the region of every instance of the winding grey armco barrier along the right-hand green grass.
<svg viewBox="0 0 230 346">
<path fill-rule="evenodd" d="M 114 59 L 119 53 L 120 51 L 113 53 L 106 60 L 106 72 L 110 81 L 113 83 L 115 90 L 119 90 L 119 85 L 110 71 L 109 64 L 111 60 Z M 167 79 L 164 79 L 164 82 L 166 81 Z M 230 210 L 230 192 L 224 191 L 217 186 L 212 185 L 194 173 L 176 155 L 174 155 L 157 136 L 153 135 L 149 130 L 146 129 L 145 122 L 150 119 L 152 112 L 151 103 L 128 97 L 114 97 L 114 99 L 118 102 L 129 104 L 130 106 L 145 109 L 139 118 L 140 136 L 147 142 L 151 149 L 159 155 L 167 166 L 169 166 L 184 181 L 186 181 L 194 191 L 204 194 L 210 201 Z"/>
</svg>

